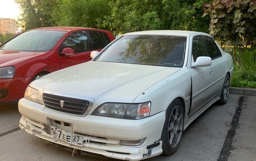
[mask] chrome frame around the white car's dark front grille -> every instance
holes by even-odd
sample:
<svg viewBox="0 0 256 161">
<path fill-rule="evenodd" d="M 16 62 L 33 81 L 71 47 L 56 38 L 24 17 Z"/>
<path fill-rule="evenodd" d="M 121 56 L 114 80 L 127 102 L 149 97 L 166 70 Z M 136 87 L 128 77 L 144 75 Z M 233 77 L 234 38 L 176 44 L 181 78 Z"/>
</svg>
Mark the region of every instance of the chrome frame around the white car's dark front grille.
<svg viewBox="0 0 256 161">
<path fill-rule="evenodd" d="M 86 109 L 85 113 L 83 115 L 81 114 L 72 114 L 72 113 L 67 113 L 67 112 L 61 112 L 61 111 L 56 111 L 54 109 L 51 109 L 51 108 L 47 108 L 44 104 L 44 100 L 43 100 L 43 94 L 44 93 L 47 93 L 47 94 L 52 94 L 52 95 L 57 95 L 57 96 L 64 96 L 64 97 L 67 97 L 67 98 L 75 98 L 75 99 L 83 99 L 83 100 L 88 100 L 89 102 L 89 106 L 88 108 Z M 72 116 L 79 116 L 79 117 L 84 117 L 86 116 L 90 109 L 92 108 L 92 105 L 94 104 L 94 100 L 93 98 L 89 98 L 89 97 L 86 97 L 86 96 L 77 96 L 77 95 L 71 95 L 71 94 L 63 94 L 63 93 L 57 93 L 57 92 L 53 92 L 53 91 L 48 91 L 48 90 L 44 90 L 43 91 L 43 94 L 42 94 L 42 101 L 43 101 L 43 105 L 45 108 L 51 110 L 51 111 L 54 111 L 54 112 L 60 112 L 60 113 L 63 113 L 63 114 L 68 114 L 68 115 L 72 115 Z"/>
</svg>

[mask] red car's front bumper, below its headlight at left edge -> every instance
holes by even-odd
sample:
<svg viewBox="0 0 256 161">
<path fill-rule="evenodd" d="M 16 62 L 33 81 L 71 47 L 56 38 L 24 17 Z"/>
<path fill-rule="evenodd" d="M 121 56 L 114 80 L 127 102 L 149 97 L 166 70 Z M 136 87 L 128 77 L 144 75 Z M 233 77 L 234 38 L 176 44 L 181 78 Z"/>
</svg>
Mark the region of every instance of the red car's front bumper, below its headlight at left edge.
<svg viewBox="0 0 256 161">
<path fill-rule="evenodd" d="M 21 99 L 30 83 L 30 78 L 0 79 L 0 104 Z"/>
</svg>

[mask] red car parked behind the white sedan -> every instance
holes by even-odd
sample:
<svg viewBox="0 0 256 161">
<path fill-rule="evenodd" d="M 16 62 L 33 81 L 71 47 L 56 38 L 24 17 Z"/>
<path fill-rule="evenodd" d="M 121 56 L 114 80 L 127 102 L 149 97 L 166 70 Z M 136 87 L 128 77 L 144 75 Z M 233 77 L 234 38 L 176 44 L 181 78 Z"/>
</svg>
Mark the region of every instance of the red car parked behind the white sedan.
<svg viewBox="0 0 256 161">
<path fill-rule="evenodd" d="M 90 61 L 114 36 L 84 27 L 43 27 L 19 34 L 0 45 L 0 104 L 24 96 L 29 83 L 62 68 Z"/>
</svg>

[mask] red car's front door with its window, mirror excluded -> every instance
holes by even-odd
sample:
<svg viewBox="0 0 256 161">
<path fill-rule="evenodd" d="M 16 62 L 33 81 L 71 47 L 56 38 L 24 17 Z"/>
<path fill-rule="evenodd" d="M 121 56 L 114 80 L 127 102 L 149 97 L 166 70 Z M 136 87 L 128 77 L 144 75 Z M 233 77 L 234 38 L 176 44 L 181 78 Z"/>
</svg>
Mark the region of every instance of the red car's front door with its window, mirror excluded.
<svg viewBox="0 0 256 161">
<path fill-rule="evenodd" d="M 74 54 L 61 54 L 64 48 L 72 48 L 75 50 Z M 61 68 L 77 65 L 83 62 L 90 61 L 90 42 L 88 31 L 75 31 L 63 40 L 59 48 L 59 60 Z"/>
</svg>

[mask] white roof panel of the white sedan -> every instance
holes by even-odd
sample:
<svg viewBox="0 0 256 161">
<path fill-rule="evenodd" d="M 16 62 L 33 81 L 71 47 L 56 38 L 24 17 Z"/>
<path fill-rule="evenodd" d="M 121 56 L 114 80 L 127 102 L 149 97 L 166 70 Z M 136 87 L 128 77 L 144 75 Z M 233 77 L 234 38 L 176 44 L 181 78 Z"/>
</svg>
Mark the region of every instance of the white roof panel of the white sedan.
<svg viewBox="0 0 256 161">
<path fill-rule="evenodd" d="M 196 35 L 208 35 L 206 33 L 200 33 L 196 31 L 181 31 L 181 30 L 152 30 L 152 31 L 138 31 L 133 33 L 127 33 L 124 35 L 175 35 L 175 36 L 189 36 L 191 34 Z"/>
</svg>

